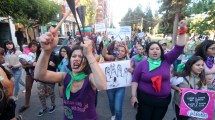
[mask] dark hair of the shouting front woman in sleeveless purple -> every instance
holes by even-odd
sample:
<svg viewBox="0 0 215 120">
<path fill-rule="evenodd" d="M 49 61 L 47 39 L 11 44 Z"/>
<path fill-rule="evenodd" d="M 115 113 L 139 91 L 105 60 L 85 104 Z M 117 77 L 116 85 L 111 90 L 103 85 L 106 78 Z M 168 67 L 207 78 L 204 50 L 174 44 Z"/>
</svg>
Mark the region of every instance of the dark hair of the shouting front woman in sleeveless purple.
<svg viewBox="0 0 215 120">
<path fill-rule="evenodd" d="M 69 63 L 68 63 L 68 66 L 67 66 L 70 70 L 72 70 L 70 58 L 72 57 L 72 53 L 73 53 L 75 50 L 81 50 L 81 51 L 82 51 L 82 54 L 83 54 L 83 47 L 81 47 L 80 45 L 77 45 L 77 44 L 76 44 L 74 47 L 72 47 L 71 53 L 68 55 Z M 83 56 L 82 59 L 85 59 L 86 62 L 87 62 L 86 66 L 85 66 L 84 69 L 83 69 L 83 72 L 85 72 L 86 74 L 92 73 L 87 58 L 86 58 L 85 56 Z M 83 61 L 83 60 L 82 60 L 82 61 Z M 82 61 L 81 61 L 81 62 L 82 62 Z M 81 64 L 82 64 L 82 63 L 81 63 Z"/>
</svg>

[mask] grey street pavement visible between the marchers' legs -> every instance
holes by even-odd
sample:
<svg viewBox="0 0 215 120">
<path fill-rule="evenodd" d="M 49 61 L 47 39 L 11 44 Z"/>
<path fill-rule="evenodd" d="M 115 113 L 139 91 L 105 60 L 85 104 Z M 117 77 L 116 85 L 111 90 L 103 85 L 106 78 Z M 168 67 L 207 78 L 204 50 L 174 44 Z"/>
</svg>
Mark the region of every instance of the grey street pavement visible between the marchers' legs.
<svg viewBox="0 0 215 120">
<path fill-rule="evenodd" d="M 22 88 L 23 89 L 23 88 Z M 39 98 L 37 95 L 37 84 L 34 82 L 31 101 L 31 107 L 27 109 L 25 112 L 21 113 L 23 116 L 23 120 L 62 120 L 63 119 L 63 101 L 58 96 L 58 88 L 55 86 L 56 93 L 56 111 L 52 114 L 48 112 L 45 113 L 41 117 L 37 117 L 39 110 L 41 109 L 41 104 L 39 102 Z M 135 120 L 136 110 L 131 107 L 130 101 L 130 87 L 126 88 L 124 103 L 123 103 L 123 117 L 122 120 Z M 21 93 L 19 99 L 17 101 L 17 115 L 18 108 L 24 104 L 24 93 Z M 171 104 L 170 104 L 171 105 Z M 50 106 L 50 99 L 47 99 L 47 106 Z M 98 93 L 98 104 L 97 104 L 97 112 L 99 120 L 110 120 L 111 113 L 108 105 L 108 98 L 105 91 L 99 91 Z M 164 120 L 172 120 L 173 119 L 172 108 L 169 107 L 167 114 Z"/>
</svg>

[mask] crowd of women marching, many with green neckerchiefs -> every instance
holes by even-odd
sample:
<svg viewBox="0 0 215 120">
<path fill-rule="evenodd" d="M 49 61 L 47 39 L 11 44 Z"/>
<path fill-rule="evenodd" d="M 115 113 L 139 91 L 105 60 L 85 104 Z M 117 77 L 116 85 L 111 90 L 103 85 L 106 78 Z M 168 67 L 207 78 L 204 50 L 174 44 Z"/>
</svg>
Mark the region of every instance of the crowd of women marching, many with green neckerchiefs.
<svg viewBox="0 0 215 120">
<path fill-rule="evenodd" d="M 31 106 L 35 81 L 41 103 L 38 116 L 55 111 L 57 96 L 63 99 L 64 120 L 97 120 L 97 91 L 106 90 L 110 119 L 122 120 L 126 86 L 107 89 L 108 80 L 99 63 L 125 60 L 130 60 L 127 68 L 132 75 L 129 99 L 132 106 L 137 106 L 136 120 L 162 120 L 171 101 L 175 119 L 207 119 L 180 114 L 184 88 L 213 91 L 215 86 L 215 42 L 205 40 L 197 44 L 193 38 L 187 39 L 187 31 L 186 21 L 180 21 L 178 39 L 172 49 L 168 49 L 165 41 L 139 38 L 135 33 L 123 41 L 105 34 L 92 34 L 83 39 L 70 36 L 68 45 L 56 54 L 53 50 L 58 44 L 58 33 L 53 27 L 37 41 L 30 42 L 23 52 L 7 41 L 0 49 L 0 119 L 22 119 L 21 115 L 15 115 L 19 84 L 26 90 L 25 104 L 18 108 L 22 113 Z M 22 72 L 26 72 L 24 82 Z M 55 83 L 59 95 L 55 95 Z M 49 107 L 46 98 L 51 100 Z"/>
</svg>

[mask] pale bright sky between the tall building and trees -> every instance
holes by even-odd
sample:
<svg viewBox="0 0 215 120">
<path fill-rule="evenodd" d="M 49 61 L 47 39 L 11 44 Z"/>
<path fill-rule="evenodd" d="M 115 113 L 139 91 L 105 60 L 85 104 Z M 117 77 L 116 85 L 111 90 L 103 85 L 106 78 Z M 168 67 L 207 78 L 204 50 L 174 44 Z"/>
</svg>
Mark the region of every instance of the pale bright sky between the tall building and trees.
<svg viewBox="0 0 215 120">
<path fill-rule="evenodd" d="M 159 9 L 157 0 L 110 0 L 110 10 L 113 12 L 113 23 L 119 27 L 121 18 L 127 13 L 128 8 L 134 10 L 138 4 L 142 5 L 143 11 L 150 6 L 152 13 Z"/>
</svg>

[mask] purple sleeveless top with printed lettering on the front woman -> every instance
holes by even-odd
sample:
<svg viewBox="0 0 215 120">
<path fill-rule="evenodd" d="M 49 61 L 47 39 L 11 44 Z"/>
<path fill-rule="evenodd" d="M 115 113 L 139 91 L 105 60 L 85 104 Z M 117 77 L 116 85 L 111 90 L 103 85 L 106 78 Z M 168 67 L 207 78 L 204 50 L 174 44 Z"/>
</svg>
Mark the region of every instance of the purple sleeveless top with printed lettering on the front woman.
<svg viewBox="0 0 215 120">
<path fill-rule="evenodd" d="M 89 82 L 89 77 L 86 77 L 82 88 L 76 92 L 70 92 L 70 99 L 66 99 L 65 89 L 69 84 L 71 77 L 69 74 L 64 79 L 64 120 L 97 120 L 95 107 L 96 91 L 93 90 Z"/>
</svg>

